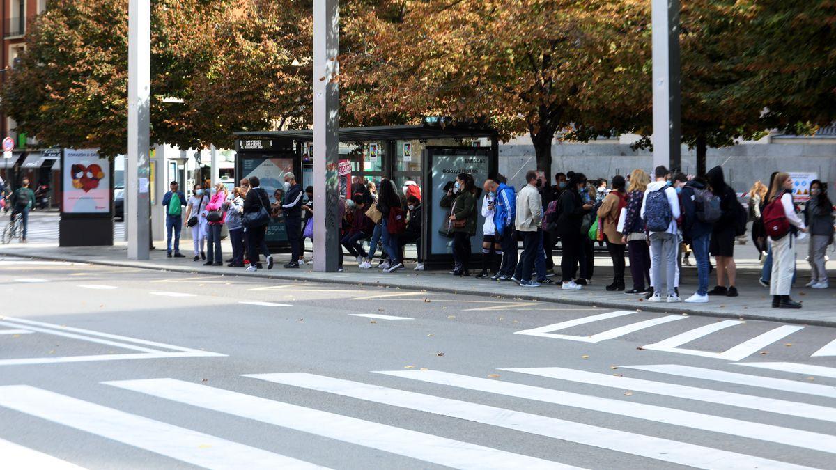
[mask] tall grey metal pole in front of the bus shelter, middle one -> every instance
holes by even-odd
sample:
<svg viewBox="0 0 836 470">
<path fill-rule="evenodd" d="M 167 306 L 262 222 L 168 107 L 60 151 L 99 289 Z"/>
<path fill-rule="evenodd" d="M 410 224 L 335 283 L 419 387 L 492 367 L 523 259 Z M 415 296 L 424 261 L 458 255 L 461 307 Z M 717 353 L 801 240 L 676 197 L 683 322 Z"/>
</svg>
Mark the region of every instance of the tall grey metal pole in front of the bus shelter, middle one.
<svg viewBox="0 0 836 470">
<path fill-rule="evenodd" d="M 314 0 L 314 271 L 339 266 L 339 1 Z M 301 178 L 301 175 L 297 175 Z"/>
</svg>

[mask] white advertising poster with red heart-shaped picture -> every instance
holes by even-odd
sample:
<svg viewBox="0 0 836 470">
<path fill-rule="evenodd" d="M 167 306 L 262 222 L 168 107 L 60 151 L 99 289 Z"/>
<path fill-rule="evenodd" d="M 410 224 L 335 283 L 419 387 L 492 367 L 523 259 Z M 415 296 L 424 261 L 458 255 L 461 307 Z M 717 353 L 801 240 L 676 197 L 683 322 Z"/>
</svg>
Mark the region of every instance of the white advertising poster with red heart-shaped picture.
<svg viewBox="0 0 836 470">
<path fill-rule="evenodd" d="M 99 158 L 99 149 L 66 149 L 61 173 L 64 213 L 110 213 L 110 161 Z"/>
</svg>

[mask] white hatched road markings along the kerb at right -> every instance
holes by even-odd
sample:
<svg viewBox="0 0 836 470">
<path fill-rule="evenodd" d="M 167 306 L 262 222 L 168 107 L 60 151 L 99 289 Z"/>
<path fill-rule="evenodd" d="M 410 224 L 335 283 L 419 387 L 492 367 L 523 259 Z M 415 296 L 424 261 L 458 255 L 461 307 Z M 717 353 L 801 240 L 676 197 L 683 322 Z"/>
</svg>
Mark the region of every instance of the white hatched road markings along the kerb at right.
<svg viewBox="0 0 836 470">
<path fill-rule="evenodd" d="M 632 323 L 627 324 L 619 324 L 618 326 L 609 328 L 609 330 L 603 331 L 597 331 L 597 328 L 599 327 L 595 326 L 595 324 L 599 323 L 610 324 L 610 322 L 612 321 L 634 319 L 635 317 L 638 317 L 640 315 L 651 315 L 651 318 L 639 319 L 637 321 L 633 321 Z M 705 323 L 706 321 L 711 321 L 711 323 L 700 325 L 694 324 L 696 322 Z M 706 337 L 709 337 L 710 335 L 721 333 L 724 330 L 728 330 L 733 327 L 737 327 L 738 329 L 742 328 L 746 326 L 746 324 L 746 321 L 737 319 L 723 319 L 714 321 L 706 318 L 695 319 L 695 317 L 687 315 L 667 314 L 664 316 L 658 316 L 655 314 L 646 314 L 641 312 L 640 310 L 618 310 L 614 312 L 606 312 L 603 314 L 589 315 L 578 319 L 568 319 L 560 323 L 547 324 L 545 326 L 539 326 L 537 328 L 532 328 L 528 330 L 515 331 L 514 333 L 517 335 L 538 336 L 541 338 L 548 338 L 553 340 L 568 340 L 583 343 L 599 343 L 605 340 L 615 340 L 619 338 L 624 338 L 627 335 L 636 333 L 640 333 L 643 335 L 657 335 L 660 331 L 660 327 L 663 325 L 668 325 L 668 330 L 682 326 L 683 328 L 687 329 L 685 331 L 682 331 L 681 333 L 677 333 L 675 335 L 666 337 L 661 340 L 656 340 L 654 343 L 643 344 L 639 347 L 639 349 L 655 350 L 681 355 L 697 355 L 701 357 L 726 361 L 737 361 L 744 360 L 750 355 L 756 354 L 758 351 L 763 350 L 763 348 L 767 347 L 768 345 L 772 345 L 777 341 L 785 340 L 790 335 L 794 335 L 798 332 L 801 332 L 806 328 L 805 326 L 798 324 L 782 324 L 780 326 L 776 326 L 770 330 L 767 330 L 761 333 L 760 335 L 753 336 L 752 338 L 745 340 L 742 343 L 739 343 L 737 345 L 731 345 L 731 347 L 723 351 L 701 350 L 686 346 L 697 340 L 702 340 Z M 584 335 L 568 335 L 566 333 L 558 333 L 565 330 L 572 330 L 578 328 L 583 328 L 584 332 L 589 331 L 589 329 L 596 330 L 597 332 L 592 334 L 587 333 Z M 836 340 L 831 340 L 827 344 L 819 345 L 817 349 L 813 350 L 810 354 L 810 357 L 821 356 L 836 356 Z"/>
</svg>

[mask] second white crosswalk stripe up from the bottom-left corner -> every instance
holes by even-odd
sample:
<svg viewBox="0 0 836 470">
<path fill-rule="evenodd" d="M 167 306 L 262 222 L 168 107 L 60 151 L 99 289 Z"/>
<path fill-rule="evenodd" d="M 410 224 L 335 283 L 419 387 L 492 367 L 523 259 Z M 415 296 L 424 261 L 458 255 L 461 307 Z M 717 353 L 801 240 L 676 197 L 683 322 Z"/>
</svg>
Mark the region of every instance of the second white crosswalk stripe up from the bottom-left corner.
<svg viewBox="0 0 836 470">
<path fill-rule="evenodd" d="M 201 467 L 317 467 L 295 458 L 32 386 L 0 386 L 0 406 Z"/>
</svg>

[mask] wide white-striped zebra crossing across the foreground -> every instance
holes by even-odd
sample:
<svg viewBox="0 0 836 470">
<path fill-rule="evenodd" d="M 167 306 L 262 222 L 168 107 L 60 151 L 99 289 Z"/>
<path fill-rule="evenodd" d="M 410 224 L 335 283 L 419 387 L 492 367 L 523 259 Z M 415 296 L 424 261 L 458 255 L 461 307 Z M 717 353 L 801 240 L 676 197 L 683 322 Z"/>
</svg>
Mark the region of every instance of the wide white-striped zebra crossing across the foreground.
<svg viewBox="0 0 836 470">
<path fill-rule="evenodd" d="M 754 367 L 744 369 L 738 365 Z M 804 381 L 812 370 L 819 372 L 817 383 Z M 832 401 L 836 398 L 833 393 L 836 381 L 831 380 L 836 377 L 836 368 L 752 362 L 715 369 L 676 364 L 619 365 L 619 374 L 615 375 L 566 367 L 498 371 L 502 376 L 482 377 L 443 370 L 378 370 L 360 374 L 359 380 L 280 372 L 242 375 L 239 381 L 227 386 L 174 378 L 103 381 L 98 385 L 101 391 L 126 394 L 122 397 L 125 401 L 140 399 L 151 401 L 152 406 L 169 403 L 181 408 L 182 413 L 166 415 L 171 416 L 166 422 L 103 406 L 96 399 L 87 401 L 34 386 L 9 385 L 0 386 L 0 412 L 13 410 L 29 416 L 28 419 L 51 421 L 77 432 L 207 468 L 308 468 L 319 467 L 324 462 L 319 461 L 315 452 L 300 456 L 298 449 L 252 447 L 235 442 L 227 434 L 224 434 L 226 438 L 218 437 L 191 430 L 178 422 L 193 426 L 189 416 L 194 413 L 232 416 L 267 425 L 277 433 L 298 432 L 342 442 L 365 449 L 364 452 L 408 457 L 415 461 L 412 467 L 426 467 L 426 464 L 456 468 L 619 467 L 616 461 L 602 462 L 602 455 L 612 454 L 601 454 L 601 450 L 646 459 L 646 467 L 656 462 L 656 466 L 662 463 L 711 469 L 806 468 L 798 462 L 833 462 L 836 458 L 836 427 L 828 424 L 818 426 L 818 432 L 813 431 L 816 425 L 836 421 L 833 407 L 836 402 Z M 624 376 L 628 374 L 634 376 Z M 537 378 L 538 385 L 530 385 L 526 380 L 529 377 Z M 375 383 L 385 381 L 390 385 L 392 380 L 396 386 Z M 686 386 L 676 383 L 678 380 L 700 385 Z M 574 391 L 562 390 L 578 383 L 591 390 L 584 389 L 584 393 L 579 393 L 577 387 Z M 235 390 L 239 387 L 240 390 Z M 253 390 L 258 395 L 252 394 Z M 316 403 L 340 406 L 324 411 L 316 406 L 283 401 L 300 391 L 305 396 L 319 394 Z M 502 399 L 502 406 L 497 406 L 497 397 Z M 711 406 L 699 406 L 700 403 Z M 358 404 L 364 416 L 375 418 L 363 419 L 339 412 Z M 548 411 L 543 411 L 543 406 L 548 406 Z M 392 420 L 396 425 L 379 422 L 385 421 L 381 413 L 396 416 L 393 410 L 426 413 L 422 421 L 433 423 L 431 429 L 438 429 L 439 435 L 409 429 L 409 425 L 398 420 Z M 601 420 L 595 419 L 599 416 L 610 416 L 605 421 L 613 424 L 601 425 Z M 774 416 L 791 419 L 776 421 Z M 627 427 L 628 431 L 616 424 L 625 419 L 644 424 Z M 470 442 L 472 437 L 459 439 L 442 431 L 445 424 L 454 421 L 568 443 L 578 449 L 579 455 L 566 458 L 558 454 L 559 457 L 549 459 L 512 448 L 492 447 L 485 442 Z M 678 431 L 654 432 L 655 425 Z M 4 441 L 13 441 L 13 436 L 2 433 L 0 427 L 0 462 L 3 462 L 3 451 L 16 458 L 21 467 L 54 461 L 55 457 Z M 273 441 L 282 442 L 281 439 Z M 774 452 L 759 455 L 764 448 Z M 811 461 L 811 455 L 818 456 L 818 460 Z M 799 459 L 799 456 L 807 458 Z M 84 462 L 66 462 L 64 467 L 76 463 Z"/>
</svg>

